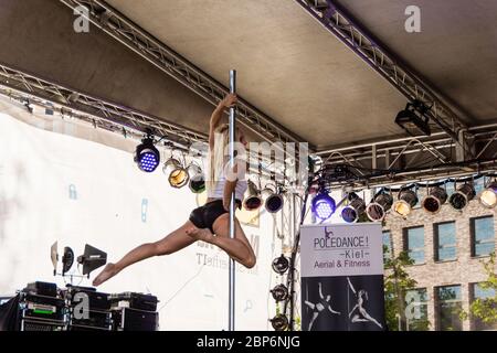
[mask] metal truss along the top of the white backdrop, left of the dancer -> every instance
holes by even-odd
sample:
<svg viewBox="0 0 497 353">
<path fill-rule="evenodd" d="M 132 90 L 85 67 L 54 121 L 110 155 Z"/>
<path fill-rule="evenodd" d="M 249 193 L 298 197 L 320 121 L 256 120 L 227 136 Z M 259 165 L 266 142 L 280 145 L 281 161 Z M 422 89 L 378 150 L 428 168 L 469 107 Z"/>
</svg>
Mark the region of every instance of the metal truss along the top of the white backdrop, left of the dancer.
<svg viewBox="0 0 497 353">
<path fill-rule="evenodd" d="M 158 117 L 120 106 L 68 87 L 35 77 L 0 63 L 0 92 L 17 100 L 34 104 L 46 109 L 59 111 L 62 116 L 71 116 L 107 130 L 127 130 L 145 132 L 151 129 L 156 136 L 179 143 L 183 147 L 192 142 L 205 142 L 203 133 L 187 129 L 180 125 L 167 122 Z"/>
</svg>

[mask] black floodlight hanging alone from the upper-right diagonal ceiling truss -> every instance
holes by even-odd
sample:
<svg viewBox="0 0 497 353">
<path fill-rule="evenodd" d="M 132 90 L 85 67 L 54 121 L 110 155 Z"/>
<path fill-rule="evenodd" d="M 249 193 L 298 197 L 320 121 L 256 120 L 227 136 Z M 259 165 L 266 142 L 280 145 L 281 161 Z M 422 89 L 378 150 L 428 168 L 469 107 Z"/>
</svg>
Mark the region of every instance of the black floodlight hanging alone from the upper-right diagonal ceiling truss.
<svg viewBox="0 0 497 353">
<path fill-rule="evenodd" d="M 429 107 L 420 100 L 408 103 L 405 109 L 396 115 L 395 124 L 411 136 L 430 136 L 432 132 L 429 125 L 430 118 L 426 116 L 427 110 Z"/>
</svg>

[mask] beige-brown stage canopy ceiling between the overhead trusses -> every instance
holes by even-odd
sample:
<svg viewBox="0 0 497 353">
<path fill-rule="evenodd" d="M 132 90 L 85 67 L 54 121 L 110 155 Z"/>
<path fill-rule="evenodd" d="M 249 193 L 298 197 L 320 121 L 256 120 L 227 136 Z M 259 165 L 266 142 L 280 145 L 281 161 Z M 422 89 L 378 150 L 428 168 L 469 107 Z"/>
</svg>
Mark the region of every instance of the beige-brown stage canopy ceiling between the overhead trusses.
<svg viewBox="0 0 497 353">
<path fill-rule="evenodd" d="M 62 2 L 4 2 L 1 62 L 207 132 L 212 106 L 103 31 L 75 33 Z M 243 98 L 318 149 L 404 136 L 393 119 L 406 98 L 295 1 L 108 3 L 216 81 L 236 68 Z M 468 126 L 497 121 L 497 2 L 338 3 Z M 404 30 L 410 4 L 422 10 L 421 33 Z"/>
</svg>

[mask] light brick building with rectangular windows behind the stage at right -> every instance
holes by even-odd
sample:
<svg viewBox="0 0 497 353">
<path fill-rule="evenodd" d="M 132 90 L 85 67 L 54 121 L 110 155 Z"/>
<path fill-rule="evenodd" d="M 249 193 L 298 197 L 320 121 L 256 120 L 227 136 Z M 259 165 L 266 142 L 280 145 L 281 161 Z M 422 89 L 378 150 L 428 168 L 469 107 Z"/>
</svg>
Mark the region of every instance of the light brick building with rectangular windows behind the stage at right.
<svg viewBox="0 0 497 353">
<path fill-rule="evenodd" d="M 419 196 L 423 197 L 421 189 Z M 430 330 L 497 330 L 497 324 L 461 320 L 457 314 L 461 308 L 467 312 L 474 298 L 495 296 L 478 282 L 487 278 L 482 260 L 497 248 L 496 229 L 496 208 L 484 207 L 477 197 L 462 212 L 446 203 L 435 215 L 417 206 L 406 218 L 391 212 L 385 217 L 383 244 L 394 256 L 406 250 L 415 261 L 408 272 L 417 281 Z"/>
</svg>

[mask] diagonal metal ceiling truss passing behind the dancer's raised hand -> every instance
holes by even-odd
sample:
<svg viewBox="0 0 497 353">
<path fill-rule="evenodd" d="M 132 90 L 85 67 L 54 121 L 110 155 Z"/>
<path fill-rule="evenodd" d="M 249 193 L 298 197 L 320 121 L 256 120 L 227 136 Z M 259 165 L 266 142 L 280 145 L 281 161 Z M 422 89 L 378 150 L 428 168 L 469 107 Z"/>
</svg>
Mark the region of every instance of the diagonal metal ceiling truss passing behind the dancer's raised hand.
<svg viewBox="0 0 497 353">
<path fill-rule="evenodd" d="M 209 103 L 216 105 L 229 89 L 195 67 L 181 55 L 133 23 L 105 1 L 61 0 L 78 15 L 87 9 L 88 20 L 141 57 L 176 78 Z M 237 121 L 267 142 L 300 142 L 302 138 L 285 129 L 272 118 L 239 97 Z"/>
</svg>

